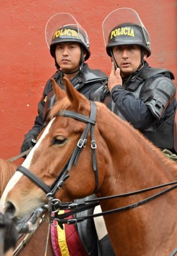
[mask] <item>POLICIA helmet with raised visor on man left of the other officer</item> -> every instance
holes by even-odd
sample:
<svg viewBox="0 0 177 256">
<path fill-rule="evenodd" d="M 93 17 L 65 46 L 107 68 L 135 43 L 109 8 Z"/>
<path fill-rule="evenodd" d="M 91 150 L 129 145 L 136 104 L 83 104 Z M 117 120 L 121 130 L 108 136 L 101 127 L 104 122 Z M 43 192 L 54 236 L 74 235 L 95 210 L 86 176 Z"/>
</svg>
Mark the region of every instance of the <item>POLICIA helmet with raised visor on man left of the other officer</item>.
<svg viewBox="0 0 177 256">
<path fill-rule="evenodd" d="M 56 45 L 61 42 L 81 44 L 83 51 L 86 52 L 84 61 L 90 56 L 88 35 L 70 13 L 57 13 L 50 17 L 45 26 L 45 39 L 53 58 L 56 58 Z"/>
</svg>

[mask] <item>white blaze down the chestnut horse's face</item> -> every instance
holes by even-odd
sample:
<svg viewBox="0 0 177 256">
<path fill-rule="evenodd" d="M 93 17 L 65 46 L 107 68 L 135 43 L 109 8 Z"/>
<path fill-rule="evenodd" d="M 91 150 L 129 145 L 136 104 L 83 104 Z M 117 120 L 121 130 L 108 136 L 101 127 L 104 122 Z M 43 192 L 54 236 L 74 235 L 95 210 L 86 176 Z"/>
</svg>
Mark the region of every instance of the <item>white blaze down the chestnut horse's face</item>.
<svg viewBox="0 0 177 256">
<path fill-rule="evenodd" d="M 29 168 L 30 164 L 31 164 L 31 160 L 33 159 L 33 155 L 34 152 L 36 150 L 36 148 L 40 147 L 40 143 L 42 142 L 43 138 L 45 138 L 45 136 L 49 133 L 49 129 L 52 125 L 52 122 L 54 122 L 53 118 L 49 124 L 47 125 L 47 127 L 45 128 L 45 131 L 43 131 L 42 136 L 40 137 L 40 140 L 38 140 L 38 142 L 36 143 L 35 147 L 32 148 L 32 150 L 29 152 L 29 155 L 26 157 L 25 161 L 22 163 L 22 166 Z M 13 187 L 15 186 L 15 184 L 17 184 L 17 182 L 20 180 L 20 178 L 23 176 L 22 173 L 20 172 L 15 172 L 15 174 L 12 176 L 12 178 L 9 180 L 6 188 L 4 189 L 3 195 L 1 196 L 1 201 L 0 201 L 0 212 L 5 211 L 5 202 L 6 202 L 6 197 L 8 195 L 8 193 L 10 192 L 11 189 L 13 189 Z"/>
</svg>

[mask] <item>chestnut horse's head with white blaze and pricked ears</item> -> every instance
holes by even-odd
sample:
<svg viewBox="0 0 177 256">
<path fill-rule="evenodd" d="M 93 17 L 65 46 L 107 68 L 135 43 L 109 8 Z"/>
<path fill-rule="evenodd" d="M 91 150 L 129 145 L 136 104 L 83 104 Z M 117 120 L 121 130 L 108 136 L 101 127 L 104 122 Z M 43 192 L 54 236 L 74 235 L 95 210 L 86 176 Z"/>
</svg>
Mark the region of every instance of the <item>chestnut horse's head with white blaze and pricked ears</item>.
<svg viewBox="0 0 177 256">
<path fill-rule="evenodd" d="M 43 206 L 48 202 L 46 193 L 53 191 L 56 198 L 62 202 L 70 202 L 75 198 L 91 195 L 95 191 L 90 128 L 86 131 L 88 135 L 86 140 L 84 139 L 84 145 L 79 145 L 87 123 L 93 122 L 89 118 L 91 103 L 73 88 L 68 79 L 65 79 L 66 93 L 59 88 L 54 79 L 52 84 L 56 104 L 50 111 L 50 122 L 40 134 L 38 142 L 22 166 L 17 168 L 1 198 L 1 209 L 11 218 L 15 218 L 19 230 L 32 212 L 36 211 L 37 217 L 43 212 Z M 65 113 L 66 115 L 63 115 Z M 72 113 L 73 118 L 72 116 L 70 118 Z M 97 132 L 96 127 L 95 132 Z M 72 157 L 74 159 L 71 164 Z M 66 166 L 66 163 L 71 164 L 72 168 Z M 38 186 L 28 175 L 24 175 L 24 170 L 33 173 L 34 179 L 41 180 L 45 188 Z M 69 177 L 65 182 L 61 172 L 65 179 Z M 61 175 L 60 180 L 58 180 L 59 175 Z M 63 182 L 63 186 L 59 186 L 59 182 Z"/>
</svg>

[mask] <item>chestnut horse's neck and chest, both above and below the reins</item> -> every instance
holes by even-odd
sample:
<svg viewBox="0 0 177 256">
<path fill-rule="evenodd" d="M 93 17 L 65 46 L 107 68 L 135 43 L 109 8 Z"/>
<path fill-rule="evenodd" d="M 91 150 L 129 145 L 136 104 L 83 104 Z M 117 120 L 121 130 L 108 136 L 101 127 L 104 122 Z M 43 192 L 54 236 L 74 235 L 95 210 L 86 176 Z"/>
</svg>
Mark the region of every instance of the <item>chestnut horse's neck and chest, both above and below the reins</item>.
<svg viewBox="0 0 177 256">
<path fill-rule="evenodd" d="M 175 180 L 170 169 L 176 170 L 176 164 L 163 156 L 162 152 L 143 138 L 139 132 L 116 118 L 111 112 L 102 111 L 97 118 L 101 136 L 96 138 L 100 137 L 99 142 L 102 143 L 102 151 L 97 155 L 99 157 L 98 172 L 102 179 L 98 197 L 120 195 Z M 107 120 L 110 124 L 107 124 Z M 175 172 L 177 173 L 177 170 Z M 102 211 L 109 211 L 135 204 L 161 190 L 164 189 L 108 199 L 100 201 L 100 205 Z M 158 248 L 158 254 L 153 252 L 156 252 L 160 241 L 163 244 L 162 241 L 166 243 L 169 240 L 164 237 L 163 232 L 159 232 L 164 220 L 166 234 L 171 234 L 172 230 L 176 234 L 174 231 L 175 199 L 176 189 L 143 207 L 105 215 L 105 225 L 116 255 L 167 255 L 168 253 L 162 252 L 164 248 L 161 249 L 161 247 Z M 158 239 L 157 236 L 159 236 Z M 169 253 L 176 246 L 174 239 L 171 240 Z M 144 253 L 141 253 L 143 250 Z"/>
</svg>

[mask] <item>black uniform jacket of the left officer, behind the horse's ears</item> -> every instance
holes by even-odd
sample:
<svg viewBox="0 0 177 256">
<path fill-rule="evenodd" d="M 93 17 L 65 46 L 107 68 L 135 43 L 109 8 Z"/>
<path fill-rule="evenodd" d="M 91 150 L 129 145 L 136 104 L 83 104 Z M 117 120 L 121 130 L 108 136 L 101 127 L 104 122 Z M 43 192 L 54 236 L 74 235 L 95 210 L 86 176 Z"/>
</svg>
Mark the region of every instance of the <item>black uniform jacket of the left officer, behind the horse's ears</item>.
<svg viewBox="0 0 177 256">
<path fill-rule="evenodd" d="M 56 83 L 65 90 L 64 84 L 62 84 L 63 73 L 58 70 L 52 77 L 56 80 Z M 88 64 L 84 64 L 82 70 L 75 76 L 71 83 L 82 93 L 87 99 L 94 100 L 96 95 L 100 94 L 104 82 L 107 80 L 107 75 L 101 70 L 91 69 Z M 42 99 L 38 103 L 38 116 L 35 118 L 35 125 L 25 135 L 27 138 L 36 138 L 40 131 L 43 129 L 45 120 L 47 119 L 47 113 L 54 104 L 54 92 L 52 88 L 52 81 L 49 79 L 43 90 Z"/>
</svg>

